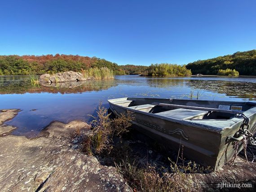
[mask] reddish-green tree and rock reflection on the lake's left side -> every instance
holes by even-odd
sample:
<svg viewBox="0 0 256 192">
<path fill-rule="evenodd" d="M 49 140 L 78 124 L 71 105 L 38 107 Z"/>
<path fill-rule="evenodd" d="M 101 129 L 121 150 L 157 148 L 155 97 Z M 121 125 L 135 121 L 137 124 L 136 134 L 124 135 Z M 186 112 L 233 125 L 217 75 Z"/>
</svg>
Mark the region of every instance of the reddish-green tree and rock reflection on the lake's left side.
<svg viewBox="0 0 256 192">
<path fill-rule="evenodd" d="M 65 82 L 57 84 L 45 84 L 33 86 L 26 81 L 9 81 L 8 83 L 0 82 L 0 94 L 22 94 L 22 93 L 81 93 L 88 91 L 100 91 L 102 89 L 108 89 L 113 86 L 117 86 L 115 79 L 106 80 L 88 80 L 80 82 Z"/>
</svg>

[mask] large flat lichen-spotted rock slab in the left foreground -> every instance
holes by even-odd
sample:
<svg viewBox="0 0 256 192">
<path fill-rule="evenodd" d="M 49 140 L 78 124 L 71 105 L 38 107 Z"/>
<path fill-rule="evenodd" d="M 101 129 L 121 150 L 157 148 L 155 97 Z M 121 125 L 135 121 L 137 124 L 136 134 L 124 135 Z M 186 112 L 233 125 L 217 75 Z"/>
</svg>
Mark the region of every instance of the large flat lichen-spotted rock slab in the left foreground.
<svg viewBox="0 0 256 192">
<path fill-rule="evenodd" d="M 72 148 L 72 134 L 88 124 L 53 122 L 41 137 L 0 138 L 0 191 L 130 191 L 115 167 Z"/>
</svg>

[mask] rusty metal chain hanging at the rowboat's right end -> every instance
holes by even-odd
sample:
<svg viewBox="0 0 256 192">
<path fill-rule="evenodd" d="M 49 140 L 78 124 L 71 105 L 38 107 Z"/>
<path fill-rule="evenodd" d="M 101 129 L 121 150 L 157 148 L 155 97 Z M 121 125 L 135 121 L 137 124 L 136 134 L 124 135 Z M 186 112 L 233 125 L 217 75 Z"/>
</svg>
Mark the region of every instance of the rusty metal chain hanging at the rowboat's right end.
<svg viewBox="0 0 256 192">
<path fill-rule="evenodd" d="M 246 157 L 246 160 L 248 162 L 248 159 L 247 159 L 247 154 L 246 154 L 246 149 L 247 149 L 247 141 L 249 142 L 249 144 L 255 146 L 256 145 L 256 138 L 253 138 L 253 134 L 249 131 L 249 128 L 250 128 L 250 118 L 246 117 L 243 113 L 236 113 L 234 118 L 243 118 L 243 122 L 240 126 L 240 129 L 238 130 L 238 132 L 236 132 L 236 136 L 237 138 L 234 138 L 234 137 L 230 137 L 231 140 L 235 140 L 235 141 L 239 141 L 238 138 L 239 137 L 243 137 L 243 150 L 244 150 L 244 155 Z M 234 154 L 234 158 L 233 160 L 231 160 L 231 164 L 234 163 L 234 160 L 236 159 L 237 155 L 238 155 L 238 142 L 236 142 L 235 144 L 235 148 L 236 148 L 236 151 L 235 151 L 235 154 Z M 252 162 L 254 161 L 254 154 L 252 153 L 253 155 L 253 160 Z"/>
</svg>

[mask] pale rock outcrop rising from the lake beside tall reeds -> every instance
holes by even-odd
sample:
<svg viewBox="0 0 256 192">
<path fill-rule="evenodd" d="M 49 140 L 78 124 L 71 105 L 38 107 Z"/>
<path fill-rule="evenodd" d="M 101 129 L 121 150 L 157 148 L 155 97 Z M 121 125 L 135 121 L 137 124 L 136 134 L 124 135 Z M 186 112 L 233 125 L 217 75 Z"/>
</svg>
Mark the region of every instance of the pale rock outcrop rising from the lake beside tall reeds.
<svg viewBox="0 0 256 192">
<path fill-rule="evenodd" d="M 40 76 L 40 83 L 60 83 L 60 82 L 77 82 L 91 80 L 93 77 L 85 78 L 83 74 L 74 71 L 67 71 L 57 74 L 42 74 Z"/>
</svg>

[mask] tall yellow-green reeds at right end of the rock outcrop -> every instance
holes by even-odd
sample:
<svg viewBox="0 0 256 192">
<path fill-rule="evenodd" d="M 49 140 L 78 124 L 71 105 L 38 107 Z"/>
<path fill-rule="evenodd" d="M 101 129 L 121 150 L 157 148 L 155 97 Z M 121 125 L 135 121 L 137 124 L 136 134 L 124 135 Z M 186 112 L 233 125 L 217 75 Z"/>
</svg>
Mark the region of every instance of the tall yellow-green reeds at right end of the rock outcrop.
<svg viewBox="0 0 256 192">
<path fill-rule="evenodd" d="M 89 68 L 88 70 L 83 70 L 82 73 L 86 78 L 93 77 L 94 79 L 114 79 L 114 71 L 107 67 Z"/>
</svg>

